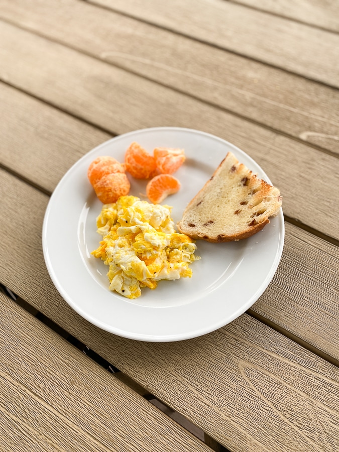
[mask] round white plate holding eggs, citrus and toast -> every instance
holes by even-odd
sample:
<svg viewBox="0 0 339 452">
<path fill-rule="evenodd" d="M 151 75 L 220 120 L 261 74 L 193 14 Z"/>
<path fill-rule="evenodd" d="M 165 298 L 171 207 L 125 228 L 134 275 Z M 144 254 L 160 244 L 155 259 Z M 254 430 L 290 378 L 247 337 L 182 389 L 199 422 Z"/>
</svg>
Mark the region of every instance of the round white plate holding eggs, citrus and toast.
<svg viewBox="0 0 339 452">
<path fill-rule="evenodd" d="M 157 146 L 184 148 L 186 161 L 176 172 L 180 191 L 166 198 L 177 222 L 228 151 L 259 177 L 269 178 L 247 154 L 212 135 L 190 129 L 153 128 L 113 138 L 82 157 L 60 180 L 43 224 L 43 251 L 49 274 L 67 303 L 82 317 L 112 333 L 141 341 L 179 341 L 213 331 L 246 311 L 264 292 L 278 267 L 284 243 L 283 213 L 253 237 L 212 244 L 197 241 L 192 278 L 160 281 L 155 290 L 129 300 L 108 290 L 107 266 L 90 255 L 97 248 L 96 216 L 101 202 L 87 179 L 100 155 L 124 161 L 137 141 L 149 152 Z M 145 181 L 131 180 L 130 194 L 145 193 Z"/>
</svg>

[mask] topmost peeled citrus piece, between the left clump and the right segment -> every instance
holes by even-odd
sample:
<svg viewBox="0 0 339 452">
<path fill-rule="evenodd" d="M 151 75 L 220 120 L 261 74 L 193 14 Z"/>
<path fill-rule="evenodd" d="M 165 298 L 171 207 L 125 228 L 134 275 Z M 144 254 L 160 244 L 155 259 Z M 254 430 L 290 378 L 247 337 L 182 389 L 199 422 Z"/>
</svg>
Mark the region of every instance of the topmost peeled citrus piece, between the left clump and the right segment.
<svg viewBox="0 0 339 452">
<path fill-rule="evenodd" d="M 126 170 L 136 179 L 149 179 L 156 174 L 157 166 L 153 155 L 134 142 L 125 154 Z"/>
</svg>

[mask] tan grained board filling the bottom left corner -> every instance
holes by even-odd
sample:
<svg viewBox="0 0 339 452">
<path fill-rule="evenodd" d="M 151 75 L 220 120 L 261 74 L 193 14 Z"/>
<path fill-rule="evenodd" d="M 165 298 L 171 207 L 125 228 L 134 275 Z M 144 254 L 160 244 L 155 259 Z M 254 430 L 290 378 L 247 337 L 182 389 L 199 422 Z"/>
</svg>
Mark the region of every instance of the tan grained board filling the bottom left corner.
<svg viewBox="0 0 339 452">
<path fill-rule="evenodd" d="M 2 450 L 211 450 L 2 294 L 0 301 Z"/>
</svg>

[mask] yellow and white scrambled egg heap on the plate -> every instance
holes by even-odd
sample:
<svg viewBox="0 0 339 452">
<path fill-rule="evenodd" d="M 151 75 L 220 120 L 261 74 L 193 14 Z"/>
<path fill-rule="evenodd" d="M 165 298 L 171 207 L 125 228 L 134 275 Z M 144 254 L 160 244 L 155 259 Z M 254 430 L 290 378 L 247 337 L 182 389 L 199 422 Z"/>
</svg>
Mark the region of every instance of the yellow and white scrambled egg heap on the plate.
<svg viewBox="0 0 339 452">
<path fill-rule="evenodd" d="M 192 239 L 175 232 L 171 207 L 136 196 L 104 204 L 97 232 L 103 240 L 92 255 L 108 265 L 109 289 L 127 298 L 139 297 L 142 287 L 155 289 L 160 279 L 190 278 L 188 265 L 200 259 Z"/>
</svg>

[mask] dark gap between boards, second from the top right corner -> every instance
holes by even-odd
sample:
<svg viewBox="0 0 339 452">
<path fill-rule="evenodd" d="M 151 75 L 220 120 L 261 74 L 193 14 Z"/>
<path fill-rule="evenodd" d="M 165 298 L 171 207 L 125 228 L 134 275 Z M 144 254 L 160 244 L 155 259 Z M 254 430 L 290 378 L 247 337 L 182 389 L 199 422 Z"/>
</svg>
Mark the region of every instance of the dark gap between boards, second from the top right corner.
<svg viewBox="0 0 339 452">
<path fill-rule="evenodd" d="M 306 80 L 310 80 L 310 81 L 319 83 L 319 84 L 324 85 L 324 86 L 327 86 L 327 87 L 329 87 L 329 88 L 338 89 L 338 86 L 336 86 L 336 85 L 332 85 L 332 84 L 327 83 L 327 82 L 324 82 L 324 81 L 322 81 L 322 80 L 317 80 L 317 79 L 315 79 L 315 78 L 311 78 L 311 77 L 309 77 L 309 76 L 307 76 L 307 75 L 304 75 L 304 74 L 299 74 L 298 72 L 293 72 L 293 71 L 290 70 L 290 69 L 286 69 L 286 68 L 281 67 L 281 66 L 276 66 L 276 65 L 273 64 L 273 63 L 269 63 L 269 62 L 267 62 L 267 61 L 260 60 L 260 59 L 258 59 L 258 58 L 252 57 L 252 56 L 250 56 L 250 55 L 246 55 L 246 54 L 244 54 L 244 53 L 237 52 L 236 50 L 231 50 L 231 49 L 228 49 L 228 48 L 226 48 L 226 47 L 222 47 L 222 46 L 220 46 L 220 45 L 218 45 L 218 44 L 214 44 L 214 43 L 211 43 L 211 42 L 208 42 L 208 41 L 204 41 L 203 39 L 197 38 L 197 37 L 195 37 L 195 36 L 186 35 L 186 34 L 183 33 L 183 32 L 179 32 L 179 31 L 177 31 L 177 30 L 173 30 L 173 29 L 171 29 L 171 28 L 169 28 L 169 27 L 165 27 L 164 25 L 155 24 L 154 22 L 147 21 L 147 20 L 142 19 L 142 18 L 138 18 L 138 17 L 133 16 L 133 15 L 131 15 L 131 14 L 124 13 L 124 12 L 121 12 L 121 11 L 119 11 L 119 10 L 115 10 L 115 9 L 110 8 L 110 7 L 107 7 L 107 6 L 105 6 L 105 5 L 98 5 L 97 3 L 92 2 L 92 1 L 90 1 L 90 0 L 85 0 L 85 2 L 88 3 L 88 4 L 90 4 L 90 5 L 92 5 L 92 6 L 95 6 L 95 7 L 97 7 L 97 8 L 101 8 L 101 9 L 104 9 L 104 10 L 106 10 L 106 11 L 114 12 L 114 13 L 116 13 L 116 14 L 120 14 L 121 16 L 125 16 L 125 17 L 128 17 L 128 18 L 130 18 L 130 19 L 134 19 L 134 20 L 136 20 L 136 21 L 138 21 L 138 22 L 142 22 L 142 23 L 144 23 L 144 24 L 151 25 L 151 26 L 153 26 L 153 27 L 155 27 L 155 28 L 159 28 L 159 29 L 161 29 L 161 30 L 165 30 L 165 31 L 168 31 L 168 32 L 170 32 L 170 33 L 173 33 L 173 34 L 175 34 L 175 35 L 178 35 L 178 36 L 182 36 L 182 37 L 184 37 L 184 38 L 191 39 L 192 41 L 199 42 L 200 44 L 205 44 L 205 45 L 208 45 L 208 46 L 213 47 L 213 48 L 215 48 L 215 49 L 223 50 L 224 52 L 229 52 L 229 53 L 232 53 L 233 55 L 238 55 L 238 56 L 240 56 L 240 57 L 249 59 L 249 60 L 251 60 L 251 61 L 255 61 L 255 62 L 257 62 L 257 63 L 264 64 L 264 65 L 269 66 L 269 67 L 272 67 L 272 68 L 274 68 L 274 69 L 279 69 L 279 70 L 284 71 L 284 72 L 287 72 L 287 73 L 289 73 L 289 74 L 297 75 L 297 76 L 299 76 L 299 77 L 305 78 Z M 34 32 L 33 32 L 33 33 L 34 33 Z"/>
</svg>

